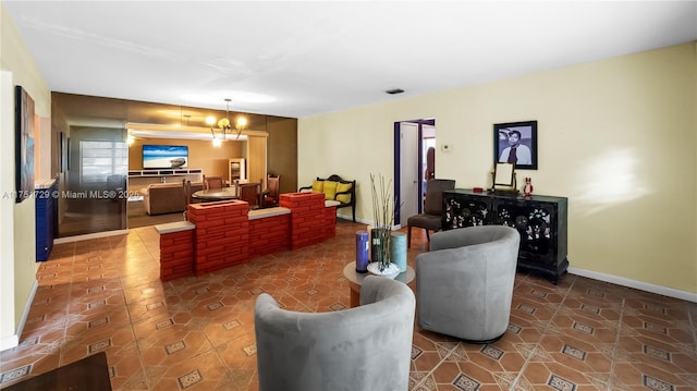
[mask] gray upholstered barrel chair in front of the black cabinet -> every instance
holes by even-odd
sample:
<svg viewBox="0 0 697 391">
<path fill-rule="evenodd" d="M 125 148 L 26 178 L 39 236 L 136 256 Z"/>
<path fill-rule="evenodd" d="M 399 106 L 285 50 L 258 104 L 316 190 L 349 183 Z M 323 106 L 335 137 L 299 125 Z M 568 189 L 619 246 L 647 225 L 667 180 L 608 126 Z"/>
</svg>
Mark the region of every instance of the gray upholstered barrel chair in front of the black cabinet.
<svg viewBox="0 0 697 391">
<path fill-rule="evenodd" d="M 503 225 L 461 228 L 431 236 L 416 257 L 417 322 L 473 343 L 509 327 L 521 235 Z"/>
</svg>

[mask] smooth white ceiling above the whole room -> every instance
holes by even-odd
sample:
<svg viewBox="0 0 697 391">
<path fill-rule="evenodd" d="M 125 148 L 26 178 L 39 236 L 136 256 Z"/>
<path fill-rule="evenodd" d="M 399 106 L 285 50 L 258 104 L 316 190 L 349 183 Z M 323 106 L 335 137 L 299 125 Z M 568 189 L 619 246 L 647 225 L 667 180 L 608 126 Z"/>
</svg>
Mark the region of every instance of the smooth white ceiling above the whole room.
<svg viewBox="0 0 697 391">
<path fill-rule="evenodd" d="M 697 39 L 696 1 L 2 1 L 52 91 L 292 118 Z"/>
</svg>

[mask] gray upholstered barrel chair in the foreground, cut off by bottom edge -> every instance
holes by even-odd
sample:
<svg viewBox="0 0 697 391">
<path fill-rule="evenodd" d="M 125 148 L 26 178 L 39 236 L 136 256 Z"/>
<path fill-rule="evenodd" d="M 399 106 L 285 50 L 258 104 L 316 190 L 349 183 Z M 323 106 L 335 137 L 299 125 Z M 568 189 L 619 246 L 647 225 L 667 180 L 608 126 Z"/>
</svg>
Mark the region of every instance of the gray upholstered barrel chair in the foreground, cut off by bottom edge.
<svg viewBox="0 0 697 391">
<path fill-rule="evenodd" d="M 415 298 L 404 283 L 368 276 L 360 306 L 331 313 L 254 313 L 259 391 L 408 389 Z"/>
</svg>

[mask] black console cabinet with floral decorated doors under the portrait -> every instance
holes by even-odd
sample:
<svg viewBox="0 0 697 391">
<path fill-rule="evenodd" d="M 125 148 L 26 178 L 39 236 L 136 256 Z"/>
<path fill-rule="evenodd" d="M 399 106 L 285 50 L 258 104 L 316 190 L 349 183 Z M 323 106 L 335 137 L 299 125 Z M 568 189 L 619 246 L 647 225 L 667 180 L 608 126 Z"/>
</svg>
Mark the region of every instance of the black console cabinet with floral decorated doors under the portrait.
<svg viewBox="0 0 697 391">
<path fill-rule="evenodd" d="M 455 188 L 443 193 L 443 230 L 499 224 L 521 233 L 518 268 L 545 274 L 557 284 L 566 272 L 565 197 L 475 193 Z"/>
</svg>

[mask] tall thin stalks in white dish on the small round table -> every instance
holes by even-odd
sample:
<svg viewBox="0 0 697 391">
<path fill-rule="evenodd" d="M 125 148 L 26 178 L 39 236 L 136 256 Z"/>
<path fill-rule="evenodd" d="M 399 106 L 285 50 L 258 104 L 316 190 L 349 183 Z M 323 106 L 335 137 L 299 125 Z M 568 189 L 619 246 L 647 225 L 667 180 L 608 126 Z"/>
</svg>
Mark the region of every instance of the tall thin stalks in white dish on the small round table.
<svg viewBox="0 0 697 391">
<path fill-rule="evenodd" d="M 376 183 L 377 182 L 377 183 Z M 372 220 L 375 228 L 370 232 L 370 256 L 374 267 L 379 273 L 394 273 L 396 265 L 390 259 L 390 241 L 394 224 L 394 201 L 390 192 L 392 180 L 386 183 L 382 175 L 370 174 L 370 192 L 372 195 Z M 372 271 L 372 270 L 371 270 Z"/>
</svg>

